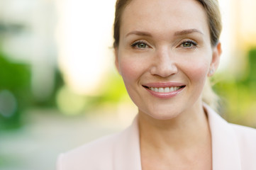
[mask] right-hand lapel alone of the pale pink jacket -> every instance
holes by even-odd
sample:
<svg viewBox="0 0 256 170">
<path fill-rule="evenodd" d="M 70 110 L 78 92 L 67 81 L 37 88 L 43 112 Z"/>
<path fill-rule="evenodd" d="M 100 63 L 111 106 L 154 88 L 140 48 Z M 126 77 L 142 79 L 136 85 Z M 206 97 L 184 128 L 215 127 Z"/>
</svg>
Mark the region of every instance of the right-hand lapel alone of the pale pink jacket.
<svg viewBox="0 0 256 170">
<path fill-rule="evenodd" d="M 213 170 L 241 170 L 238 139 L 235 131 L 220 115 L 204 105 L 211 128 Z"/>
</svg>

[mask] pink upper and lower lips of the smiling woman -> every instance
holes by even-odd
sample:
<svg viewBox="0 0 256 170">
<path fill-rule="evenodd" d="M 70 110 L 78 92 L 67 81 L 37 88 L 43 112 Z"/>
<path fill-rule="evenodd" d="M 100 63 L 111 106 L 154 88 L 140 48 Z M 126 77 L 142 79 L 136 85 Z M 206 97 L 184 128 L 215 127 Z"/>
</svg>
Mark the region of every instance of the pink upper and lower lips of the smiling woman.
<svg viewBox="0 0 256 170">
<path fill-rule="evenodd" d="M 184 86 L 181 89 L 178 89 L 177 91 L 172 91 L 169 93 L 160 93 L 160 92 L 155 92 L 152 91 L 150 89 L 148 89 L 147 87 L 157 87 L 157 88 L 165 88 L 165 87 L 172 87 L 172 86 Z M 184 88 L 186 87 L 185 84 L 182 83 L 177 83 L 177 82 L 167 82 L 167 83 L 148 83 L 148 84 L 143 84 L 143 87 L 152 95 L 155 96 L 157 98 L 172 98 L 174 96 L 177 96 L 178 94 L 180 94 Z"/>
</svg>

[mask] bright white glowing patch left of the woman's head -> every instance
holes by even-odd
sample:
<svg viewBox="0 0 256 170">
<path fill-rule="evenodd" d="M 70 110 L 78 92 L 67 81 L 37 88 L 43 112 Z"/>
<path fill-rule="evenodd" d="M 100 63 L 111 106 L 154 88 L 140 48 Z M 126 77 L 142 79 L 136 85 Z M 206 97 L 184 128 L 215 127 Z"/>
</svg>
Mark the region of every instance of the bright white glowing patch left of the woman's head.
<svg viewBox="0 0 256 170">
<path fill-rule="evenodd" d="M 102 82 L 109 64 L 113 62 L 110 47 L 115 1 L 60 0 L 56 3 L 58 60 L 66 83 L 77 93 L 99 94 L 104 88 Z"/>
</svg>

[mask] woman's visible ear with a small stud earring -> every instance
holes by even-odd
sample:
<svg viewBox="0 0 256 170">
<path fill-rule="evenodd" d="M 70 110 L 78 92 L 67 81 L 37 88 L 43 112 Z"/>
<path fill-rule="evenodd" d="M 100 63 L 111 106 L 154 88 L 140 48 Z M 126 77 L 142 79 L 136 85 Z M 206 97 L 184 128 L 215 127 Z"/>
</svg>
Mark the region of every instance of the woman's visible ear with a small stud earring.
<svg viewBox="0 0 256 170">
<path fill-rule="evenodd" d="M 211 59 L 210 69 L 208 71 L 208 77 L 211 77 L 214 74 L 214 72 L 216 72 L 216 70 L 218 69 L 218 65 L 221 59 L 221 53 L 221 42 L 218 42 L 218 44 L 215 47 L 213 47 L 213 56 Z"/>
</svg>

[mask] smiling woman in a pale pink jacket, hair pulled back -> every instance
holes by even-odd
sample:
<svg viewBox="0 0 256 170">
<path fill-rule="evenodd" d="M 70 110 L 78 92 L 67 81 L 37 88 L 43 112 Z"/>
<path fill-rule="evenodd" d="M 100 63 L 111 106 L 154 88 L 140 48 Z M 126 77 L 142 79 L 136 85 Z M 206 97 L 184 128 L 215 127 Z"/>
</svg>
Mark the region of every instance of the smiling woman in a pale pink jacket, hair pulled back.
<svg viewBox="0 0 256 170">
<path fill-rule="evenodd" d="M 115 63 L 138 115 L 62 154 L 58 169 L 255 169 L 256 130 L 227 123 L 203 95 L 220 33 L 217 0 L 117 1 Z"/>
</svg>

